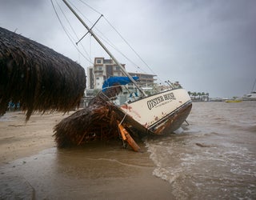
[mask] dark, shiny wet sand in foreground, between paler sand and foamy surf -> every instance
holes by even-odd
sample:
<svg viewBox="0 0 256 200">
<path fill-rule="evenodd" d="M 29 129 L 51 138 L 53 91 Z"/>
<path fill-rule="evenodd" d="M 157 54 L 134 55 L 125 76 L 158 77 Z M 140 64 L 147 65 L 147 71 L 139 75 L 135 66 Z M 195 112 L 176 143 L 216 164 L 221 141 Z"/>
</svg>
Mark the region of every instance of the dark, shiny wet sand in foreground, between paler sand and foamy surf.
<svg viewBox="0 0 256 200">
<path fill-rule="evenodd" d="M 138 154 L 102 143 L 51 148 L 0 169 L 1 198 L 169 199 L 171 195 L 169 184 L 152 175 L 154 164 L 145 147 Z M 26 191 L 22 194 L 21 185 Z"/>
</svg>

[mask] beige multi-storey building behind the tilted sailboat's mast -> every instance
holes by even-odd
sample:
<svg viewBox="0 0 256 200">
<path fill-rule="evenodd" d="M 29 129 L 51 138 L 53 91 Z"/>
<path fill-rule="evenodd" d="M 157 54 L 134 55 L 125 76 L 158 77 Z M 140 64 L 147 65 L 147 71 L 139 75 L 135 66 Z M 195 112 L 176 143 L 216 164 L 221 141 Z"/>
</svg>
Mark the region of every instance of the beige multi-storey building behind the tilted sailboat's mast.
<svg viewBox="0 0 256 200">
<path fill-rule="evenodd" d="M 122 64 L 125 68 L 126 65 Z M 130 73 L 131 76 L 139 77 L 140 85 L 142 87 L 154 86 L 154 76 L 153 74 L 140 74 L 140 73 Z M 112 60 L 105 59 L 102 57 L 94 58 L 94 66 L 89 66 L 87 68 L 87 89 L 102 89 L 102 84 L 106 78 L 112 76 L 126 76 L 123 74 L 120 67 Z"/>
</svg>

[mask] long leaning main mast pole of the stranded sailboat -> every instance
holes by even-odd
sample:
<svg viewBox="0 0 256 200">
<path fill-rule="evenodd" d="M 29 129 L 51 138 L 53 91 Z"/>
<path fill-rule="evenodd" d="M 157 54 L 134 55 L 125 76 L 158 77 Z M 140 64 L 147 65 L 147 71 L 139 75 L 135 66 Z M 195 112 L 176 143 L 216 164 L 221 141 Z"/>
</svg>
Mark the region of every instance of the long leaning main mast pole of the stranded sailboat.
<svg viewBox="0 0 256 200">
<path fill-rule="evenodd" d="M 90 29 L 89 26 L 86 25 L 86 23 L 82 20 L 82 18 L 80 18 L 80 16 L 74 11 L 74 9 L 70 6 L 70 4 L 68 2 L 66 2 L 66 0 L 62 0 L 62 2 L 64 2 L 66 4 L 66 6 L 71 10 L 71 12 L 78 18 L 78 20 L 82 23 L 83 26 L 86 27 L 86 30 L 89 31 L 89 33 L 94 37 L 94 39 L 99 43 L 100 46 L 102 46 L 103 50 L 106 51 L 107 54 L 110 55 L 110 58 L 112 58 L 114 60 L 114 62 L 120 67 L 120 69 L 122 70 L 122 72 L 124 74 L 126 74 L 126 76 L 128 78 L 130 78 L 130 81 L 134 83 L 134 85 L 138 88 L 138 90 L 140 90 L 140 92 L 142 92 L 142 94 L 144 96 L 146 96 L 146 93 L 144 92 L 144 90 L 142 90 L 142 88 L 140 86 L 138 86 L 137 82 L 135 82 L 134 78 L 132 78 L 130 76 L 130 74 L 128 74 L 128 72 L 126 72 L 126 70 L 123 68 L 123 66 L 120 64 L 120 62 L 118 62 L 118 60 L 116 58 L 114 58 L 114 55 L 110 53 L 110 51 L 106 48 L 106 46 L 99 40 L 99 38 L 94 34 L 93 30 Z"/>
</svg>

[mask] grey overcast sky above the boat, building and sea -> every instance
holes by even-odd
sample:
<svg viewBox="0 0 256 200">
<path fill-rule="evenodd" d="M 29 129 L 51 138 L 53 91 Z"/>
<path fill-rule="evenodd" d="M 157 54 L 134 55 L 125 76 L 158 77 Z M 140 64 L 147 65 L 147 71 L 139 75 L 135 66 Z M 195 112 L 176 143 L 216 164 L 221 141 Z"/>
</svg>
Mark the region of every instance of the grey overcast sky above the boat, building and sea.
<svg viewBox="0 0 256 200">
<path fill-rule="evenodd" d="M 94 10 L 104 14 L 150 66 L 149 69 L 141 62 L 106 19 L 101 18 L 94 28 L 96 33 L 110 38 L 139 66 L 113 50 L 119 62 L 126 63 L 128 71 L 154 73 L 158 82 L 179 81 L 186 90 L 207 92 L 210 97 L 242 96 L 252 90 L 256 78 L 256 1 L 82 0 L 94 10 L 80 1 L 72 0 L 86 18 L 95 22 L 100 14 Z M 78 44 L 86 58 L 79 54 L 58 22 L 50 0 L 0 2 L 1 27 L 49 46 L 85 69 L 91 65 L 88 60 L 94 57 L 109 58 L 90 35 Z M 72 33 L 66 21 L 69 18 L 81 38 L 86 30 L 61 1 L 53 2 L 66 30 Z"/>
</svg>

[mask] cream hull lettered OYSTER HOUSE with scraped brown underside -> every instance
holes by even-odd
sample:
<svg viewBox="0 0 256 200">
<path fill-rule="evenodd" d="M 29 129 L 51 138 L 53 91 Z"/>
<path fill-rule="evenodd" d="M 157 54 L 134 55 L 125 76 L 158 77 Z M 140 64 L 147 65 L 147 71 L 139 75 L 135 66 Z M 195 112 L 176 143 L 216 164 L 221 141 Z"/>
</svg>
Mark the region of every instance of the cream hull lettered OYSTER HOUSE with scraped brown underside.
<svg viewBox="0 0 256 200">
<path fill-rule="evenodd" d="M 191 107 L 189 94 L 179 88 L 122 105 L 119 111 L 122 112 L 123 121 L 132 130 L 147 134 L 167 134 L 182 125 Z"/>
</svg>

